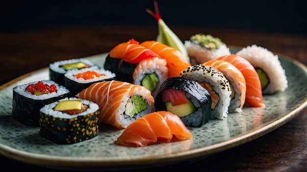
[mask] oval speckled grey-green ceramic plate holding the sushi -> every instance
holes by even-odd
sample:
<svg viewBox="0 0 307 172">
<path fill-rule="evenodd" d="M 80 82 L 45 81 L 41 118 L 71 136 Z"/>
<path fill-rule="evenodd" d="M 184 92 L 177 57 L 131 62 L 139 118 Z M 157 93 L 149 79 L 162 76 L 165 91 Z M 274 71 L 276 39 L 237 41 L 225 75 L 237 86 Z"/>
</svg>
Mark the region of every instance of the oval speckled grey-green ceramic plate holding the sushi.
<svg viewBox="0 0 307 172">
<path fill-rule="evenodd" d="M 230 46 L 235 52 L 239 47 Z M 103 66 L 107 53 L 86 57 Z M 206 158 L 254 140 L 279 128 L 307 107 L 307 67 L 282 54 L 289 87 L 284 92 L 264 95 L 264 108 L 244 107 L 224 120 L 209 120 L 203 127 L 188 128 L 194 138 L 147 147 L 117 146 L 123 132 L 101 125 L 99 135 L 72 145 L 58 145 L 39 136 L 39 128 L 27 127 L 12 118 L 12 88 L 49 79 L 48 68 L 18 77 L 0 86 L 0 154 L 33 165 L 56 169 L 118 170 L 153 167 Z"/>
</svg>

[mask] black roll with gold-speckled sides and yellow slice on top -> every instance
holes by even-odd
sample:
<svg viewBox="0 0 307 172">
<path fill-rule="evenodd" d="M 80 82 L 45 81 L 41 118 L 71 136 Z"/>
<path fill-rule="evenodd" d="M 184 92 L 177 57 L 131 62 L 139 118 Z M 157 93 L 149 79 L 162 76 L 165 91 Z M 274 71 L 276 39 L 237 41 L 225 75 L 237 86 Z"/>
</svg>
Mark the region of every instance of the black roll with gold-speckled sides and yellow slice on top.
<svg viewBox="0 0 307 172">
<path fill-rule="evenodd" d="M 85 99 L 64 98 L 40 109 L 40 136 L 57 144 L 74 144 L 99 133 L 99 106 Z"/>
</svg>

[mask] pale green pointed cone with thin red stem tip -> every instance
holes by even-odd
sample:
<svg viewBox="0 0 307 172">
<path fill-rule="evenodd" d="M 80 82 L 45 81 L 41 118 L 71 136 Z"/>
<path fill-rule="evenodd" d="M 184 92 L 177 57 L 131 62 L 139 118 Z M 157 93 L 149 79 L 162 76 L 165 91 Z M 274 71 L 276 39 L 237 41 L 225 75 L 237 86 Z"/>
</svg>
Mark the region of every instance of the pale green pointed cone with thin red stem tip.
<svg viewBox="0 0 307 172">
<path fill-rule="evenodd" d="M 157 35 L 156 41 L 160 43 L 164 43 L 168 46 L 171 46 L 179 50 L 189 62 L 190 59 L 188 58 L 188 53 L 187 53 L 186 48 L 184 47 L 184 44 L 181 42 L 178 36 L 161 19 L 157 1 L 154 0 L 153 3 L 154 3 L 154 9 L 156 13 L 154 13 L 152 10 L 148 8 L 146 9 L 146 11 L 158 21 L 158 35 Z"/>
</svg>

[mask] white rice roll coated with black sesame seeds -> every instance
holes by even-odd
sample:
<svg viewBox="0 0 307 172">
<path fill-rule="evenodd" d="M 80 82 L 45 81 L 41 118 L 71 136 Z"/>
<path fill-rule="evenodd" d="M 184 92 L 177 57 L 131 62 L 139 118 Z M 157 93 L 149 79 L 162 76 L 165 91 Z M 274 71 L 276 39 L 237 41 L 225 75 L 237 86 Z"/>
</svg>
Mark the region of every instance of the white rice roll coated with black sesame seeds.
<svg viewBox="0 0 307 172">
<path fill-rule="evenodd" d="M 180 76 L 197 81 L 209 92 L 212 99 L 212 119 L 224 119 L 228 116 L 231 88 L 228 79 L 222 72 L 211 66 L 195 64 L 183 70 Z"/>
</svg>

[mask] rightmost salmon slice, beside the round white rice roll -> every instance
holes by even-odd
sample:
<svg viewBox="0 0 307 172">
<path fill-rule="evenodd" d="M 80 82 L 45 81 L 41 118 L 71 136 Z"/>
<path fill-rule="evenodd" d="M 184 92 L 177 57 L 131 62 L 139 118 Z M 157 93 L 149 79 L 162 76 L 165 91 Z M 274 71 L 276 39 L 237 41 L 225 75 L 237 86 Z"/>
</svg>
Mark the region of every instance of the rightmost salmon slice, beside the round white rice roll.
<svg viewBox="0 0 307 172">
<path fill-rule="evenodd" d="M 252 107 L 265 107 L 262 98 L 262 88 L 259 79 L 259 75 L 256 72 L 254 66 L 243 57 L 235 54 L 225 55 L 218 57 L 217 60 L 224 60 L 233 64 L 238 68 L 246 81 L 246 101 Z"/>
</svg>

